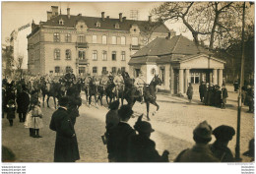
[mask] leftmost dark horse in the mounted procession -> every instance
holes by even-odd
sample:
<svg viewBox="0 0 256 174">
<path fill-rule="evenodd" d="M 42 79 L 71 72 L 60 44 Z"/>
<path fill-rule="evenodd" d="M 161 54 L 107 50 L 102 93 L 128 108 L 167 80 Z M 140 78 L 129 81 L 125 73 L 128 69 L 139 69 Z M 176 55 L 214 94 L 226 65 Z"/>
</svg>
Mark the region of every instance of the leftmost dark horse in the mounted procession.
<svg viewBox="0 0 256 174">
<path fill-rule="evenodd" d="M 56 99 L 59 99 L 59 97 L 61 96 L 60 95 L 60 83 L 51 83 L 50 84 L 50 87 L 48 89 L 47 85 L 46 85 L 46 82 L 42 79 L 41 80 L 41 93 L 42 93 L 42 106 L 44 107 L 44 98 L 45 98 L 45 95 L 47 94 L 47 107 L 50 107 L 49 106 L 49 98 L 50 96 L 53 97 L 53 101 L 54 101 L 54 106 L 55 106 L 55 109 L 56 109 Z"/>
</svg>

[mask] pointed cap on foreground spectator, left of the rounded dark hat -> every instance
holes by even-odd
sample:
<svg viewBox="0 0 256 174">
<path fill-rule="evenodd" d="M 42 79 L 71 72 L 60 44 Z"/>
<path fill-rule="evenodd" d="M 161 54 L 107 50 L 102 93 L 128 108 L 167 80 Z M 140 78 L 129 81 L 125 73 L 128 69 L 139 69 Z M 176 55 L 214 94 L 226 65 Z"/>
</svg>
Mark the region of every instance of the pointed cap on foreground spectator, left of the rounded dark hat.
<svg viewBox="0 0 256 174">
<path fill-rule="evenodd" d="M 212 127 L 204 121 L 195 128 L 193 135 L 201 140 L 212 140 Z"/>
</svg>

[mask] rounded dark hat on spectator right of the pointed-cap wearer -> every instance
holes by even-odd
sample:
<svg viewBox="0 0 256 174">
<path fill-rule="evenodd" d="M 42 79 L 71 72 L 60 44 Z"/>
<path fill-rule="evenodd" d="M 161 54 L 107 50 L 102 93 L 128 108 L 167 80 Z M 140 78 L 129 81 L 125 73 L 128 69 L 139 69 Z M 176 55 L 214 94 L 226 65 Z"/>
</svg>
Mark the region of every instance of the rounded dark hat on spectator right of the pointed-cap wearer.
<svg viewBox="0 0 256 174">
<path fill-rule="evenodd" d="M 219 126 L 213 131 L 213 135 L 216 137 L 216 139 L 221 141 L 232 140 L 232 137 L 234 136 L 234 134 L 235 134 L 234 129 L 226 125 Z"/>
</svg>

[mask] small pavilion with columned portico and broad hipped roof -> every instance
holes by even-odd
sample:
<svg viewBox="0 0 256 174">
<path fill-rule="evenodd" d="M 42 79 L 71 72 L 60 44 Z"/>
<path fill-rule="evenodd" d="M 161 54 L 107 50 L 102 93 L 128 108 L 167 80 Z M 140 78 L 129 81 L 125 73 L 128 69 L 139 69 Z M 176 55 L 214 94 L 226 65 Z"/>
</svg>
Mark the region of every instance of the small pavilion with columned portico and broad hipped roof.
<svg viewBox="0 0 256 174">
<path fill-rule="evenodd" d="M 130 74 L 146 72 L 148 84 L 158 74 L 163 83 L 159 88 L 172 94 L 186 93 L 189 83 L 194 92 L 199 91 L 201 82 L 222 86 L 224 64 L 224 60 L 213 57 L 211 52 L 182 35 L 156 38 L 129 61 Z"/>
</svg>

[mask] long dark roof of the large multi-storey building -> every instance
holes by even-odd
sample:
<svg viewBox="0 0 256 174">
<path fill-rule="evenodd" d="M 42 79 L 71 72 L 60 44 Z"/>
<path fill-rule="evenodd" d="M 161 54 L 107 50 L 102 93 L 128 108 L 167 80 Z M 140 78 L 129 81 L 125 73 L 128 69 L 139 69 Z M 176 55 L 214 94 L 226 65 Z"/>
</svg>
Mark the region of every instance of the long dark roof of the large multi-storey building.
<svg viewBox="0 0 256 174">
<path fill-rule="evenodd" d="M 59 25 L 59 20 L 64 21 L 64 25 Z M 134 21 L 123 19 L 123 22 L 120 22 L 119 19 L 110 19 L 104 18 L 102 21 L 101 18 L 96 17 L 86 17 L 86 16 L 70 16 L 70 19 L 67 15 L 58 15 L 51 18 L 50 20 L 44 22 L 42 26 L 49 27 L 64 27 L 64 28 L 75 28 L 78 21 L 84 21 L 89 29 L 111 29 L 111 30 L 129 30 L 132 25 L 137 24 L 141 31 L 147 31 L 147 27 L 152 26 L 148 21 Z M 100 23 L 100 27 L 96 27 L 96 23 Z M 115 29 L 115 24 L 119 24 L 119 29 Z M 158 28 L 154 29 L 154 32 L 168 32 L 169 29 L 166 28 L 164 24 L 160 25 Z"/>
</svg>

